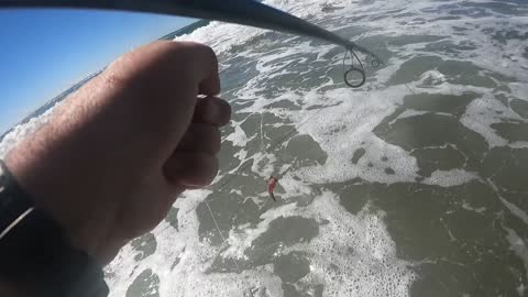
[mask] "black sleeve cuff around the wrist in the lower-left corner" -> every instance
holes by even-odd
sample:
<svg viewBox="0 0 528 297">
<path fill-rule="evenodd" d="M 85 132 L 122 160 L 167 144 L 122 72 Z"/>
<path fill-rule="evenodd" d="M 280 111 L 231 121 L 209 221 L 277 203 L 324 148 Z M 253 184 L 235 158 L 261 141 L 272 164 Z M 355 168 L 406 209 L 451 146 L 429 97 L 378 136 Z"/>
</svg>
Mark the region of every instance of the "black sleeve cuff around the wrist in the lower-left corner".
<svg viewBox="0 0 528 297">
<path fill-rule="evenodd" d="M 101 267 L 72 246 L 64 229 L 34 205 L 3 162 L 0 167 L 0 283 L 10 286 L 1 288 L 31 290 L 24 292 L 28 296 L 105 296 Z"/>
</svg>

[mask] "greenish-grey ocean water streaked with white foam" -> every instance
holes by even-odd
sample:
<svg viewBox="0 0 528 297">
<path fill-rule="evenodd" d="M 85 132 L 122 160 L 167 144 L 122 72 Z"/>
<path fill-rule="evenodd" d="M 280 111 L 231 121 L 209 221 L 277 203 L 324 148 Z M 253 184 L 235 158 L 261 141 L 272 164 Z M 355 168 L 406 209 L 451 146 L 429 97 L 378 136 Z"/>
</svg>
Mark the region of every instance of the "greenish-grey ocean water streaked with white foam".
<svg viewBox="0 0 528 297">
<path fill-rule="evenodd" d="M 528 2 L 264 2 L 385 63 L 351 89 L 324 42 L 177 37 L 219 56 L 221 169 L 123 248 L 111 296 L 528 296 Z"/>
</svg>

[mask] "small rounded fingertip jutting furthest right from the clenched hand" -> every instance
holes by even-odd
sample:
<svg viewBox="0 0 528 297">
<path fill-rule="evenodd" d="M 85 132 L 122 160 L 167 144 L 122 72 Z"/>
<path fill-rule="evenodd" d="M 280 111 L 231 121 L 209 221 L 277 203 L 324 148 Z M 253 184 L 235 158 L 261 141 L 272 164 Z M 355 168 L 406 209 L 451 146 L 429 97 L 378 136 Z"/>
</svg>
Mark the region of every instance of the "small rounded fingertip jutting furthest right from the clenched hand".
<svg viewBox="0 0 528 297">
<path fill-rule="evenodd" d="M 222 127 L 231 119 L 231 107 L 226 100 L 217 97 L 199 99 L 196 103 L 193 121 Z"/>
</svg>

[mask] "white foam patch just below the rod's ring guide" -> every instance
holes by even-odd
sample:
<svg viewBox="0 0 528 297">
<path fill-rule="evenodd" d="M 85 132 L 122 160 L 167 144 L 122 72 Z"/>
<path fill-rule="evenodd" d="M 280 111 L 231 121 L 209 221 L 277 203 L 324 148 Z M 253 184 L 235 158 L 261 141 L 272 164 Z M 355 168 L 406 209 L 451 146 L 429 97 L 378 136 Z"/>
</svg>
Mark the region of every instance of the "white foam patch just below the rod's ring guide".
<svg viewBox="0 0 528 297">
<path fill-rule="evenodd" d="M 306 110 L 294 114 L 297 130 L 309 134 L 328 154 L 324 165 L 301 168 L 300 177 L 311 183 L 344 182 L 354 177 L 387 184 L 414 182 L 418 170 L 416 158 L 373 133 L 374 128 L 396 110 L 406 94 L 406 88 L 399 86 L 382 91 L 336 89 L 322 96 L 312 92 L 305 95 L 308 101 L 319 98 L 322 102 L 333 100 L 340 105 L 327 107 L 324 112 Z M 337 127 L 342 129 L 330 133 Z M 364 148 L 365 154 L 358 164 L 352 164 L 358 148 Z M 381 162 L 382 158 L 386 161 Z M 370 167 L 369 164 L 374 166 Z M 388 167 L 396 174 L 387 175 L 385 169 Z"/>
</svg>

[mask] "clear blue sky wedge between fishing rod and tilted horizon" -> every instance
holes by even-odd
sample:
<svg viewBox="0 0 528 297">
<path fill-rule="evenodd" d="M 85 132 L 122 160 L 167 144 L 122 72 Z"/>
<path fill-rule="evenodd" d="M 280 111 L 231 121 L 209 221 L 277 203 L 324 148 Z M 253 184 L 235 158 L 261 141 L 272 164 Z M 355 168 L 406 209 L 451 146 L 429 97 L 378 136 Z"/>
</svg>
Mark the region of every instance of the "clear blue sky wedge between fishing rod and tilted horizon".
<svg viewBox="0 0 528 297">
<path fill-rule="evenodd" d="M 195 20 L 95 10 L 0 10 L 0 134 L 124 52 Z"/>
</svg>

